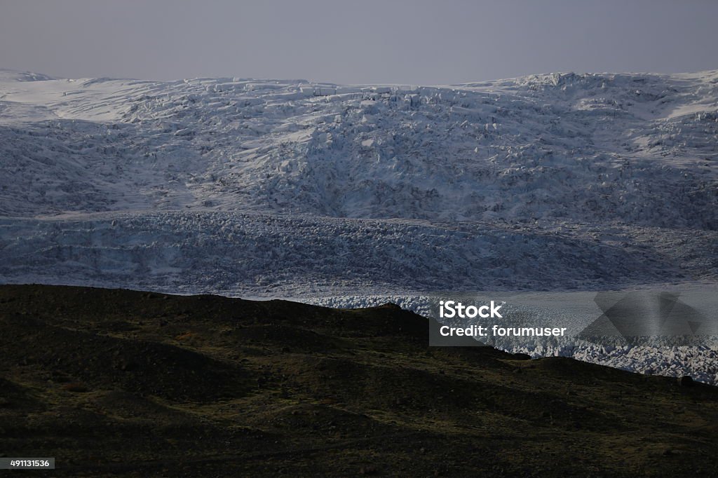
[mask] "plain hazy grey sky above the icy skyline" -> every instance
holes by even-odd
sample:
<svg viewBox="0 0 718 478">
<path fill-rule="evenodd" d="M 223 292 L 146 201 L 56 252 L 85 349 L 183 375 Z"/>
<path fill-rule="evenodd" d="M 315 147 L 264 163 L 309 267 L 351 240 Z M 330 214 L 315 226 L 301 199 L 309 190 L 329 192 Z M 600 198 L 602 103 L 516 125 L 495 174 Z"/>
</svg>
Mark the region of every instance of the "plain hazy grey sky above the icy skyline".
<svg viewBox="0 0 718 478">
<path fill-rule="evenodd" d="M 718 68 L 718 1 L 0 0 L 0 68 L 460 83 Z"/>
</svg>

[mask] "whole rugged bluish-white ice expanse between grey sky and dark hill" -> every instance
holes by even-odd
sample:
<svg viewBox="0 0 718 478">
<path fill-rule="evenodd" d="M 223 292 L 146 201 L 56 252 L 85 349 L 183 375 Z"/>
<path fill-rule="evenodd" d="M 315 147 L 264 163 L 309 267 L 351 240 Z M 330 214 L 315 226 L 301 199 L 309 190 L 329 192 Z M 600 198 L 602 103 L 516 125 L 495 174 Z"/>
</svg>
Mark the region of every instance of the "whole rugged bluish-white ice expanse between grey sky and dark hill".
<svg viewBox="0 0 718 478">
<path fill-rule="evenodd" d="M 717 147 L 716 71 L 407 86 L 0 70 L 0 282 L 418 311 L 440 290 L 711 286 Z M 709 339 L 505 347 L 715 380 Z"/>
</svg>

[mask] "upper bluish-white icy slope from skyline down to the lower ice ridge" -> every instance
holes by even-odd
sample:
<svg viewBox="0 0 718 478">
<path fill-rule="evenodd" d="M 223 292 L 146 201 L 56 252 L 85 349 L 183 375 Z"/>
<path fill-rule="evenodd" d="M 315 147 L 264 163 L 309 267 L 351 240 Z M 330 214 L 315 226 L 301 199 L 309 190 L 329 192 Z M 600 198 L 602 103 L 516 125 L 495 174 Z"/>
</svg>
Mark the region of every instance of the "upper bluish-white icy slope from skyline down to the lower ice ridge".
<svg viewBox="0 0 718 478">
<path fill-rule="evenodd" d="M 718 227 L 718 73 L 0 83 L 3 204 Z"/>
</svg>

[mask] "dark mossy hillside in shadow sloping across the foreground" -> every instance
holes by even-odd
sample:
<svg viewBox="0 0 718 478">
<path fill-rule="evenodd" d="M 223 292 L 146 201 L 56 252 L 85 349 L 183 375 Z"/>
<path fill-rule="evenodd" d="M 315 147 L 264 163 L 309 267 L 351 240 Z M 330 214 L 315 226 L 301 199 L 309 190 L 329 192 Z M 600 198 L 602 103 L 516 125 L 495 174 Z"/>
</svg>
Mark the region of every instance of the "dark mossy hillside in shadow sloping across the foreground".
<svg viewBox="0 0 718 478">
<path fill-rule="evenodd" d="M 0 451 L 52 476 L 718 473 L 716 388 L 428 347 L 392 305 L 8 285 L 0 330 Z"/>
</svg>

